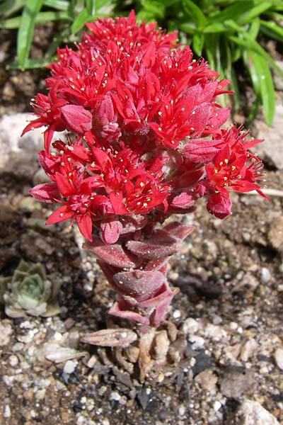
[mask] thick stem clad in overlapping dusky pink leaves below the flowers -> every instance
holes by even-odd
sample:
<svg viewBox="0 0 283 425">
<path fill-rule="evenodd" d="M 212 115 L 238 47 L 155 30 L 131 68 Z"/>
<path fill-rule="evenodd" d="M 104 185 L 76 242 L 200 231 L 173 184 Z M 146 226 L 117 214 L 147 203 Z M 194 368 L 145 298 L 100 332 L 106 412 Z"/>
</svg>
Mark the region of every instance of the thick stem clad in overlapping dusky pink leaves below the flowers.
<svg viewBox="0 0 283 425">
<path fill-rule="evenodd" d="M 178 289 L 166 278 L 168 261 L 193 227 L 171 222 L 154 229 L 150 237 L 141 230 L 139 240 L 119 239 L 103 244 L 97 237 L 86 247 L 98 258 L 100 268 L 118 299 L 109 313 L 146 326 L 158 327 Z"/>
</svg>

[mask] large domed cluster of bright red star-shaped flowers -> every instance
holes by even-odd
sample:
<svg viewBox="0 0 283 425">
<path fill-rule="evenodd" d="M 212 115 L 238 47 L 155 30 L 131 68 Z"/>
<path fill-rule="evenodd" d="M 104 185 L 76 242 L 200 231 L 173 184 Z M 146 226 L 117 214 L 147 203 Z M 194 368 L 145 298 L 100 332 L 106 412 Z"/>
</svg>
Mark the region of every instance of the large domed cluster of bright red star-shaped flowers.
<svg viewBox="0 0 283 425">
<path fill-rule="evenodd" d="M 30 193 L 59 203 L 47 224 L 76 220 L 89 241 L 93 233 L 104 244 L 121 238 L 125 249 L 127 238 L 146 239 L 157 222 L 190 212 L 200 197 L 224 218 L 229 189 L 263 196 L 262 164 L 248 152 L 260 140 L 246 140 L 242 128 L 220 130 L 229 108 L 217 96 L 229 93 L 228 80 L 193 60 L 177 33 L 137 25 L 134 12 L 88 29 L 76 50 L 58 50 L 48 94 L 33 103 L 38 118 L 23 130 L 46 127 L 39 158 L 50 183 Z M 67 139 L 53 141 L 63 130 Z"/>
</svg>

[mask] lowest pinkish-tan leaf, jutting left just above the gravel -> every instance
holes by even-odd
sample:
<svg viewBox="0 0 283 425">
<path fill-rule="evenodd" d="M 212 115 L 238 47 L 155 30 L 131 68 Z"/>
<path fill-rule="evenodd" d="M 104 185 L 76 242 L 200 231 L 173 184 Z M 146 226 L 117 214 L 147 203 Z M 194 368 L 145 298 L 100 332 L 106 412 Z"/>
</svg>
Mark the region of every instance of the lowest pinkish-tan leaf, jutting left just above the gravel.
<svg viewBox="0 0 283 425">
<path fill-rule="evenodd" d="M 81 338 L 82 342 L 106 347 L 127 347 L 137 340 L 137 334 L 126 328 L 103 329 Z"/>
</svg>

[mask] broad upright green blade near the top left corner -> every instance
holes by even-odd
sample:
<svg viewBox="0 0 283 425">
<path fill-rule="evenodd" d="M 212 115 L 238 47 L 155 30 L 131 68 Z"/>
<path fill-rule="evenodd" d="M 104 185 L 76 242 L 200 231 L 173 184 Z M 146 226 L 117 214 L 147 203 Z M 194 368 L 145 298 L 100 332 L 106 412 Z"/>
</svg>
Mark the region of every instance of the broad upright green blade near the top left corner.
<svg viewBox="0 0 283 425">
<path fill-rule="evenodd" d="M 33 30 L 35 28 L 35 16 L 42 7 L 43 0 L 27 0 L 21 16 L 20 28 L 18 28 L 17 55 L 20 67 L 25 67 L 25 61 L 28 59 L 30 45 L 33 39 Z"/>
</svg>

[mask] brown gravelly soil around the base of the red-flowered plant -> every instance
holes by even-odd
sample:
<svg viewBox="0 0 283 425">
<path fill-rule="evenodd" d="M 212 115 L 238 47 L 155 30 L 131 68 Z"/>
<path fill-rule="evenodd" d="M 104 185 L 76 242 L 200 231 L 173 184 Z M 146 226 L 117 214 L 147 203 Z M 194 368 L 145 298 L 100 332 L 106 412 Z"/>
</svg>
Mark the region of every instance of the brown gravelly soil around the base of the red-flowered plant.
<svg viewBox="0 0 283 425">
<path fill-rule="evenodd" d="M 271 188 L 282 179 L 282 171 L 267 174 Z M 168 314 L 178 338 L 167 364 L 141 382 L 129 367 L 134 349 L 121 359 L 79 341 L 107 326 L 115 295 L 76 232 L 43 225 L 50 207 L 28 196 L 30 184 L 0 183 L 4 276 L 23 258 L 64 280 L 58 316 L 1 312 L 1 424 L 246 424 L 236 414 L 246 399 L 283 421 L 282 198 L 234 194 L 227 220 L 204 205 L 185 217 L 195 232 L 169 271 L 180 288 Z M 164 339 L 156 344 L 162 351 Z"/>
</svg>

